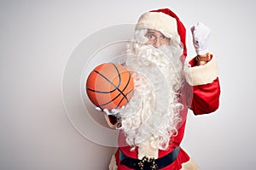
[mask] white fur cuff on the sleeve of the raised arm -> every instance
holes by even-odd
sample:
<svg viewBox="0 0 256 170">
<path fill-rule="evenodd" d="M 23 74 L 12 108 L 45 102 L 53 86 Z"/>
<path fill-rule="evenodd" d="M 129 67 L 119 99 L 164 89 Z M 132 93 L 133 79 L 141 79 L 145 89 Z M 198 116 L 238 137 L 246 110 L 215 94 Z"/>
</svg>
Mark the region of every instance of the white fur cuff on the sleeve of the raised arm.
<svg viewBox="0 0 256 170">
<path fill-rule="evenodd" d="M 191 86 L 203 85 L 213 82 L 218 77 L 218 65 L 215 56 L 206 65 L 193 66 L 189 63 L 184 65 L 184 76 Z"/>
</svg>

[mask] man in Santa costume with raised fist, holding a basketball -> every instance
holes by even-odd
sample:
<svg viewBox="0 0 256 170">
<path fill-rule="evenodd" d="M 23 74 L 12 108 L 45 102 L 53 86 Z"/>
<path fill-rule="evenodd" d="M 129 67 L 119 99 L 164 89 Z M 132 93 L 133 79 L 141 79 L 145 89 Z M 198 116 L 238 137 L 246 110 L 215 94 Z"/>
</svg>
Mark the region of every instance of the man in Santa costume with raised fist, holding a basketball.
<svg viewBox="0 0 256 170">
<path fill-rule="evenodd" d="M 143 14 L 125 66 L 135 92 L 125 108 L 106 111 L 119 128 L 119 148 L 109 169 L 198 169 L 179 146 L 188 109 L 195 115 L 218 109 L 217 60 L 207 48 L 210 29 L 191 27 L 197 56 L 185 62 L 185 28 L 170 9 Z"/>
</svg>

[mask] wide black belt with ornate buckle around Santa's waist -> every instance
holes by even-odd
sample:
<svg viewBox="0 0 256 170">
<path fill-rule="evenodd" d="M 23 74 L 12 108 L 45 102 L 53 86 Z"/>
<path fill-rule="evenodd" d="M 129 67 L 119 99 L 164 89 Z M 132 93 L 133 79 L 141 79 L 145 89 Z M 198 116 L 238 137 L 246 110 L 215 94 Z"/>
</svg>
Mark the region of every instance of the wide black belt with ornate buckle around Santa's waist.
<svg viewBox="0 0 256 170">
<path fill-rule="evenodd" d="M 179 153 L 180 146 L 177 146 L 172 152 L 166 156 L 160 157 L 158 159 L 148 158 L 144 156 L 142 160 L 134 159 L 129 156 L 125 156 L 122 150 L 119 150 L 119 159 L 122 165 L 130 167 L 136 170 L 155 170 L 171 165 L 173 161 L 176 160 Z"/>
</svg>

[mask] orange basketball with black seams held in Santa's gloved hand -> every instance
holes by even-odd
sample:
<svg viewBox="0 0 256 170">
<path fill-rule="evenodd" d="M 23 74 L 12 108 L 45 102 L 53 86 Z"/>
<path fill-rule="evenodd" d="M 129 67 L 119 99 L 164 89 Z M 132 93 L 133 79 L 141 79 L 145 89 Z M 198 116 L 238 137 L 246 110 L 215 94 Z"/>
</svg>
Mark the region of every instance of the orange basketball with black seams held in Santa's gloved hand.
<svg viewBox="0 0 256 170">
<path fill-rule="evenodd" d="M 116 63 L 104 63 L 90 72 L 86 92 L 90 101 L 102 109 L 116 109 L 125 105 L 133 94 L 130 71 Z"/>
</svg>

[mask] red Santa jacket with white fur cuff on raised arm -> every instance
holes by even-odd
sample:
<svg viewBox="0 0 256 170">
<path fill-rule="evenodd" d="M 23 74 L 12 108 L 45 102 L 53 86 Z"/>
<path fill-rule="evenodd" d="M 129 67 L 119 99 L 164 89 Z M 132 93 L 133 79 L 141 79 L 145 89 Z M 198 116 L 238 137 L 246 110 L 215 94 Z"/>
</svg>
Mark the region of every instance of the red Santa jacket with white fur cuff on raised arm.
<svg viewBox="0 0 256 170">
<path fill-rule="evenodd" d="M 181 95 L 181 101 L 184 106 L 183 111 L 181 111 L 183 122 L 178 129 L 177 136 L 171 137 L 172 139 L 170 140 L 169 148 L 167 150 L 159 150 L 158 158 L 166 156 L 182 142 L 188 109 L 193 111 L 195 115 L 212 113 L 218 109 L 220 87 L 217 76 L 217 59 L 212 56 L 212 59 L 207 65 L 195 65 L 195 59 L 192 59 L 189 63 L 184 65 L 184 75 L 187 82 L 185 82 L 183 86 Z M 120 131 L 119 144 L 123 145 L 124 142 L 125 135 Z M 119 150 L 122 150 L 126 156 L 137 159 L 137 149 L 131 150 L 130 146 L 119 147 L 115 154 L 118 169 L 130 169 L 129 167 L 120 164 Z M 189 156 L 183 149 L 180 149 L 176 161 L 173 161 L 171 165 L 162 168 L 162 170 L 178 170 L 182 167 L 183 162 L 186 161 L 189 161 Z"/>
</svg>

